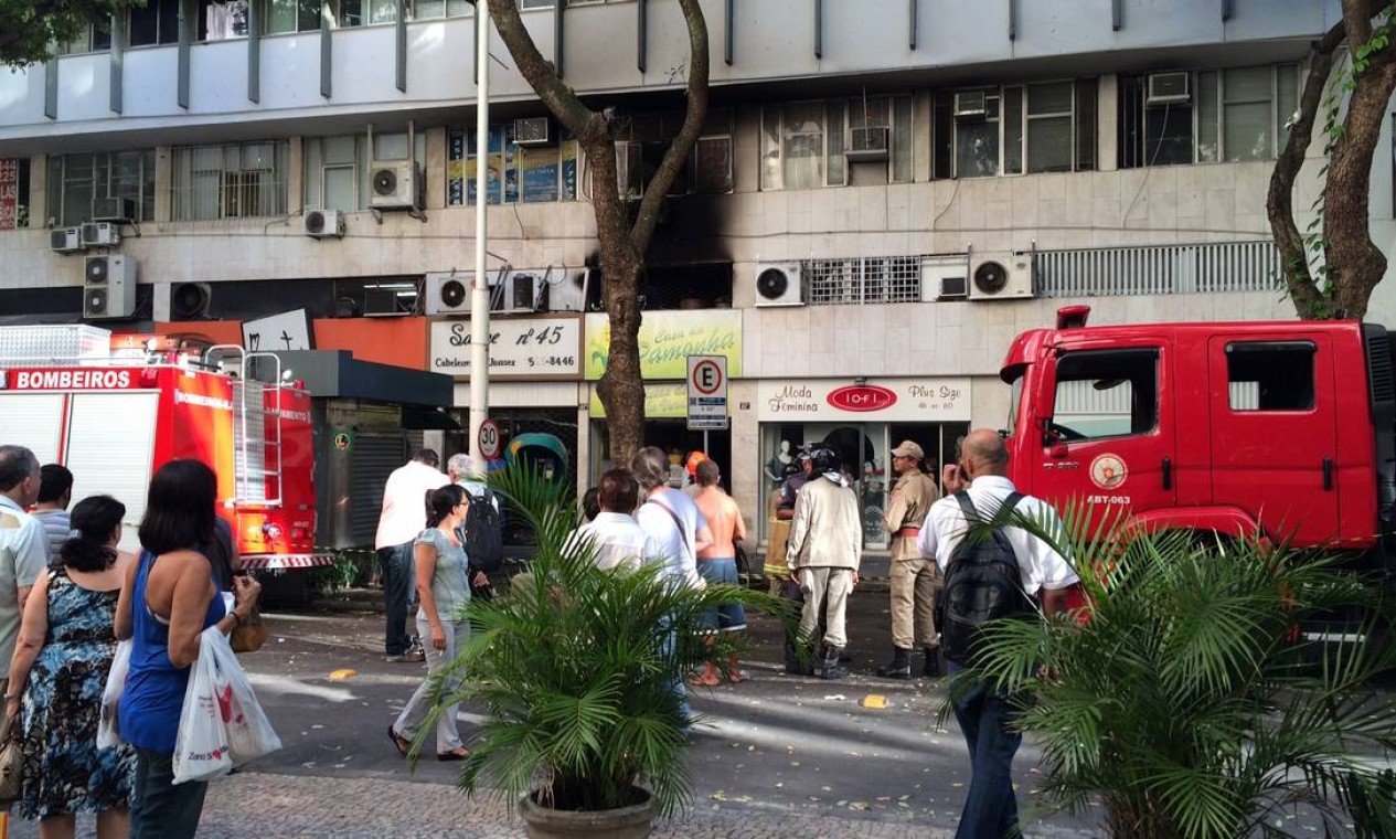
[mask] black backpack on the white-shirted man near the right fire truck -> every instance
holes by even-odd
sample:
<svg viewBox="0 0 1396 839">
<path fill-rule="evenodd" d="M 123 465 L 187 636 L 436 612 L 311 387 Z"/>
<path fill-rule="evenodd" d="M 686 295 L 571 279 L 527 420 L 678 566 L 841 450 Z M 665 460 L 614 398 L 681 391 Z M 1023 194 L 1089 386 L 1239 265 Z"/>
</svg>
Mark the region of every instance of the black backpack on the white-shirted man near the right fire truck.
<svg viewBox="0 0 1396 839">
<path fill-rule="evenodd" d="M 1004 498 L 1004 511 L 1016 507 L 1022 498 L 1022 493 L 1009 494 Z M 955 500 L 970 526 L 986 521 L 974 510 L 967 493 L 955 493 Z M 941 649 L 945 651 L 946 660 L 958 664 L 973 663 L 980 625 L 1032 609 L 1032 602 L 1023 592 L 1013 546 L 1002 529 L 995 529 L 984 539 L 966 536 L 955 546 L 941 597 Z"/>
</svg>

